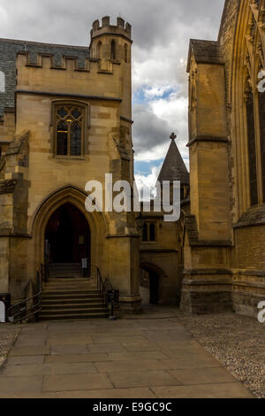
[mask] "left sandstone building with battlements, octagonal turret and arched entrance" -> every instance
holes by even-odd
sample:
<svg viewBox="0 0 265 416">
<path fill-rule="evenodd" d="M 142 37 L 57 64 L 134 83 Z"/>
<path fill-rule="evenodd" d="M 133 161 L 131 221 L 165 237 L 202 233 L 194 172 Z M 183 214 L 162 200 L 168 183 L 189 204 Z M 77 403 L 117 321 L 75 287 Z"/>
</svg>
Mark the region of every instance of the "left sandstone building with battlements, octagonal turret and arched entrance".
<svg viewBox="0 0 265 416">
<path fill-rule="evenodd" d="M 13 300 L 45 259 L 88 258 L 124 309 L 140 309 L 134 214 L 85 209 L 87 181 L 133 185 L 132 43 L 109 17 L 89 48 L 0 40 L 0 292 Z"/>
</svg>

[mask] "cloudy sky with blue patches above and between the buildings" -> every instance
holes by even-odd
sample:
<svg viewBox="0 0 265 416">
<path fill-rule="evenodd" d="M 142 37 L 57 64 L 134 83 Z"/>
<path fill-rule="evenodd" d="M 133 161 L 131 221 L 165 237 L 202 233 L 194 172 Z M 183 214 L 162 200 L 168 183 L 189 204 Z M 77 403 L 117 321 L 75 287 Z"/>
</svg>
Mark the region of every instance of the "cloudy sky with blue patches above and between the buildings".
<svg viewBox="0 0 265 416">
<path fill-rule="evenodd" d="M 188 166 L 186 58 L 190 38 L 216 40 L 224 0 L 0 0 L 0 37 L 88 45 L 95 19 L 133 26 L 137 180 L 155 182 L 172 131 Z"/>
</svg>

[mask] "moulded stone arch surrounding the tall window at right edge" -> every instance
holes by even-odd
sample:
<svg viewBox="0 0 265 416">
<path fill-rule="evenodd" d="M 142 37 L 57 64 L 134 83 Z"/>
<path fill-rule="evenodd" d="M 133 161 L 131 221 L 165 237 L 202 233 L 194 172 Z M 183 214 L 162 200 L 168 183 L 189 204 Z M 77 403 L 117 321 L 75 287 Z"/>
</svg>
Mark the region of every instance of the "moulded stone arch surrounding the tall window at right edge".
<svg viewBox="0 0 265 416">
<path fill-rule="evenodd" d="M 246 100 L 248 93 L 254 96 L 254 131 L 256 145 L 256 163 L 261 202 L 261 140 L 257 104 L 258 73 L 264 68 L 264 5 L 265 0 L 245 0 L 240 4 L 238 26 L 234 40 L 232 79 L 231 79 L 231 116 L 235 143 L 233 151 L 237 159 L 235 178 L 238 182 L 238 217 L 251 205 L 250 169 L 248 158 L 248 135 Z"/>
</svg>

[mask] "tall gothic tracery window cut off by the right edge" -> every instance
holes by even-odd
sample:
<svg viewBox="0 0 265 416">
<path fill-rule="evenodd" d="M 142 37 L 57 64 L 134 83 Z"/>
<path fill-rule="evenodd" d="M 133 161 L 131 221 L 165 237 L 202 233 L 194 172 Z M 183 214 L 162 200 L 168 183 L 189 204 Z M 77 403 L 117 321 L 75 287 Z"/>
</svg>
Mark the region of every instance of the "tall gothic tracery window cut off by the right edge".
<svg viewBox="0 0 265 416">
<path fill-rule="evenodd" d="M 236 52 L 239 55 L 240 64 L 236 71 L 234 97 L 235 103 L 237 103 L 235 105 L 236 112 L 238 112 L 240 119 L 238 119 L 235 127 L 236 129 L 239 128 L 238 140 L 244 140 L 244 146 L 240 147 L 242 152 L 245 153 L 246 151 L 247 158 L 242 159 L 243 155 L 239 155 L 239 164 L 241 166 L 243 162 L 241 170 L 243 181 L 241 181 L 241 184 L 248 182 L 248 189 L 242 190 L 248 191 L 249 197 L 247 199 L 250 206 L 265 202 L 265 98 L 260 94 L 259 89 L 260 71 L 264 69 L 265 65 L 262 41 L 264 34 L 264 1 L 246 0 L 246 2 L 241 2 L 241 13 L 244 19 L 240 23 L 239 33 L 242 34 L 243 44 L 240 46 L 238 44 L 238 52 Z M 243 32 L 245 35 L 243 35 Z M 247 87 L 244 91 L 245 104 L 241 101 L 242 86 L 244 85 Z M 244 117 L 242 117 L 242 109 Z M 245 178 L 246 171 L 249 173 L 249 178 Z M 248 179 L 248 181 L 245 181 L 245 179 Z M 242 208 L 246 209 L 247 205 L 245 205 L 244 199 L 242 200 Z"/>
</svg>

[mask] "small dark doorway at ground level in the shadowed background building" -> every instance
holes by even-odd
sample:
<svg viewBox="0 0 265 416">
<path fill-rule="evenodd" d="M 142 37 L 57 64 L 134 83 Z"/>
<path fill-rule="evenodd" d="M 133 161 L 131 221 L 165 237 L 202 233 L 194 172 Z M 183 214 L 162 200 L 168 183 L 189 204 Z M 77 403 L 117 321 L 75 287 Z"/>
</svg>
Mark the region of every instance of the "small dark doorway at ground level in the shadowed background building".
<svg viewBox="0 0 265 416">
<path fill-rule="evenodd" d="M 142 304 L 159 304 L 159 275 L 153 270 L 140 269 Z"/>
</svg>

